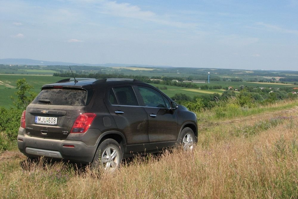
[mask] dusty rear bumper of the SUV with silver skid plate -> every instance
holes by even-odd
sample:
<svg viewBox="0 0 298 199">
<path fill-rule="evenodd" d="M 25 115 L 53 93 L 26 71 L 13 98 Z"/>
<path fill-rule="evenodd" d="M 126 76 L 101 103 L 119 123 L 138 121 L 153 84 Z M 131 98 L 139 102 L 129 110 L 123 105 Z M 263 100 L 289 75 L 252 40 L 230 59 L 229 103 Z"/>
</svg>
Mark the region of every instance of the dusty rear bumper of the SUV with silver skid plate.
<svg viewBox="0 0 298 199">
<path fill-rule="evenodd" d="M 80 141 L 44 139 L 20 134 L 17 141 L 19 150 L 26 156 L 61 158 L 81 163 L 92 162 L 97 149 L 97 145 L 87 146 Z"/>
</svg>

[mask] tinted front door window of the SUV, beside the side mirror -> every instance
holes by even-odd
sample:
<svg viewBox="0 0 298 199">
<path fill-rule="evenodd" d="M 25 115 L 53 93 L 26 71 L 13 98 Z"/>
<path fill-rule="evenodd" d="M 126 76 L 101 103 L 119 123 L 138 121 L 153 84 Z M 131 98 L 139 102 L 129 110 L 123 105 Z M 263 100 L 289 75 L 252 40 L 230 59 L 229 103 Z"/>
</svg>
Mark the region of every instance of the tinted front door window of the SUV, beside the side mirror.
<svg viewBox="0 0 298 199">
<path fill-rule="evenodd" d="M 139 86 L 140 94 L 146 107 L 162 107 L 166 108 L 162 94 L 149 87 Z"/>
</svg>

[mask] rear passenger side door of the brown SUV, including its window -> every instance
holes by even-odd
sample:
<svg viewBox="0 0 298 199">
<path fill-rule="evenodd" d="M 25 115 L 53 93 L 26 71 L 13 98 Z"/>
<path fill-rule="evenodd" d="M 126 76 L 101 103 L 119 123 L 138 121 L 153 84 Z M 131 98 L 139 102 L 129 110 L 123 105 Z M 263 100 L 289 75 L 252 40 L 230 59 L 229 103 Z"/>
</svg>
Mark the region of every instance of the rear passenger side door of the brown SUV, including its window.
<svg viewBox="0 0 298 199">
<path fill-rule="evenodd" d="M 107 107 L 114 117 L 118 130 L 126 137 L 127 152 L 143 152 L 148 138 L 148 116 L 139 106 L 131 86 L 108 88 Z"/>
</svg>

